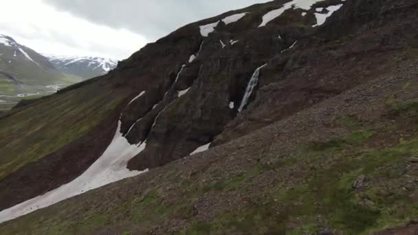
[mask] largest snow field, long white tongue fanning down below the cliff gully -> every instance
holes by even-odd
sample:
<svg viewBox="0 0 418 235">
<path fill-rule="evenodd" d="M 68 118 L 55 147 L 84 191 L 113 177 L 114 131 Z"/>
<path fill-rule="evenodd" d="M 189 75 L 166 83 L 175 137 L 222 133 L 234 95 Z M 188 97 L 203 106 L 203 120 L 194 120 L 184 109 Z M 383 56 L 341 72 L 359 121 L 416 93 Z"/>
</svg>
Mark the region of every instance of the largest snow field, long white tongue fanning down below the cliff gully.
<svg viewBox="0 0 418 235">
<path fill-rule="evenodd" d="M 128 161 L 145 149 L 146 141 L 140 144 L 129 144 L 128 140 L 120 133 L 120 126 L 121 122 L 119 120 L 118 128 L 111 144 L 82 175 L 55 190 L 1 211 L 0 223 L 16 219 L 19 216 L 41 208 L 46 208 L 89 190 L 148 171 L 130 171 L 126 168 Z"/>
</svg>

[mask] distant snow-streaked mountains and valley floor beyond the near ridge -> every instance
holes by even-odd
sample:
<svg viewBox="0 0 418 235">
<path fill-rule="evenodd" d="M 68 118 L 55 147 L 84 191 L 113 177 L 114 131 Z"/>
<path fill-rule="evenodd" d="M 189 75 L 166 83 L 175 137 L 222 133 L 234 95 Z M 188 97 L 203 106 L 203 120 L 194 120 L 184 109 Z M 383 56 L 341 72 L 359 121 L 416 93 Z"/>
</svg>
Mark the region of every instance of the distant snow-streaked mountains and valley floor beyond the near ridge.
<svg viewBox="0 0 418 235">
<path fill-rule="evenodd" d="M 19 100 L 56 92 L 76 82 L 102 76 L 118 61 L 98 57 L 43 56 L 0 34 L 0 110 Z"/>
</svg>

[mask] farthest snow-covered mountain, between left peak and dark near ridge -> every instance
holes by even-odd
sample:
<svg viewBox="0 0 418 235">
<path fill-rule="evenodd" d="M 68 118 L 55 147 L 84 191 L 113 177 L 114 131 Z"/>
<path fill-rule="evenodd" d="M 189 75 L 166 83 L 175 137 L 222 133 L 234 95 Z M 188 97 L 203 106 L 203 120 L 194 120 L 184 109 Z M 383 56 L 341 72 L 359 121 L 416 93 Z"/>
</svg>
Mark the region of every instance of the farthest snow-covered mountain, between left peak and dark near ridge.
<svg viewBox="0 0 418 235">
<path fill-rule="evenodd" d="M 47 55 L 47 58 L 58 70 L 80 78 L 94 78 L 107 74 L 118 65 L 118 60 L 91 56 Z"/>
</svg>

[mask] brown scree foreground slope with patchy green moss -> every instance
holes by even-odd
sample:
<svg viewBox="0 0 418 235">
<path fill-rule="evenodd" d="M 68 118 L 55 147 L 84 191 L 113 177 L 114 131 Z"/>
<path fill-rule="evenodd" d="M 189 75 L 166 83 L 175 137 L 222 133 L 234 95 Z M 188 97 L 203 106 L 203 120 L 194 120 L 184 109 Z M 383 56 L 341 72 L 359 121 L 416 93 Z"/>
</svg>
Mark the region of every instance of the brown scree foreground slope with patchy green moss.
<svg viewBox="0 0 418 235">
<path fill-rule="evenodd" d="M 406 225 L 418 217 L 414 68 L 0 233 L 371 234 Z"/>
</svg>

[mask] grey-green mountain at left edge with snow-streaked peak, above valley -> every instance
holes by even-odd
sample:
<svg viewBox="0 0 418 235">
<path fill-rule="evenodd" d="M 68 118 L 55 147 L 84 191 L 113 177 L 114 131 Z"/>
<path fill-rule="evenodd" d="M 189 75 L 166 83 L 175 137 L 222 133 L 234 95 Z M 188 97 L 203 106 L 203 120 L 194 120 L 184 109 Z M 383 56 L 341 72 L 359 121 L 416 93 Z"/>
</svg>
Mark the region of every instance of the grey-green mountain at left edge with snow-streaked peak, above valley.
<svg viewBox="0 0 418 235">
<path fill-rule="evenodd" d="M 25 97 L 50 95 L 58 87 L 80 80 L 61 73 L 33 49 L 0 34 L 0 109 L 8 109 Z"/>
</svg>

